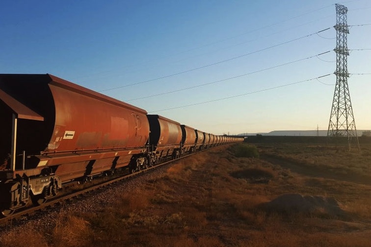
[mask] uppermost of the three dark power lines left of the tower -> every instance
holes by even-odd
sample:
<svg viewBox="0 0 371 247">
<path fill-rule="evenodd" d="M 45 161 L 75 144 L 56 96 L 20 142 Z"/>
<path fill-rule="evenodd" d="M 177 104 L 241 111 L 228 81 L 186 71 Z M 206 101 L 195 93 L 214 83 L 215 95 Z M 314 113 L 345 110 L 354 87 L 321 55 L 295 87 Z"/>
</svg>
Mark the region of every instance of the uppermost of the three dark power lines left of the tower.
<svg viewBox="0 0 371 247">
<path fill-rule="evenodd" d="M 328 29 L 331 29 L 331 27 L 328 27 L 328 28 L 325 28 L 325 29 L 323 29 L 321 31 L 318 31 L 318 32 L 315 32 L 315 33 L 312 33 L 312 34 L 308 34 L 308 35 L 305 35 L 305 36 L 301 36 L 299 38 L 292 39 L 292 40 L 289 40 L 289 41 L 286 41 L 286 42 L 283 42 L 283 43 L 280 43 L 280 44 L 277 44 L 277 45 L 272 45 L 272 46 L 265 47 L 265 48 L 260 49 L 260 50 L 252 51 L 252 52 L 249 52 L 249 53 L 246 53 L 246 54 L 237 56 L 237 57 L 233 57 L 233 58 L 229 58 L 229 59 L 226 59 L 226 60 L 222 60 L 222 61 L 219 61 L 219 62 L 216 62 L 216 63 L 213 63 L 213 64 L 209 64 L 209 65 L 205 65 L 205 66 L 201 66 L 201 67 L 196 67 L 196 68 L 188 69 L 188 70 L 185 70 L 185 71 L 182 71 L 182 72 L 178 72 L 178 73 L 171 74 L 171 75 L 161 76 L 161 77 L 158 77 L 158 78 L 155 78 L 155 79 L 150 79 L 150 80 L 146 80 L 146 81 L 142 81 L 142 82 L 136 82 L 136 83 L 128 84 L 128 85 L 125 85 L 125 86 L 120 86 L 120 87 L 115 87 L 115 88 L 100 90 L 99 92 L 108 91 L 108 90 L 115 90 L 115 89 L 121 89 L 121 88 L 129 87 L 129 86 L 134 86 L 134 85 L 143 84 L 143 83 L 146 83 L 146 82 L 151 82 L 151 81 L 156 81 L 156 80 L 159 80 L 159 79 L 164 79 L 164 78 L 172 77 L 172 76 L 179 75 L 179 74 L 184 74 L 184 73 L 187 73 L 187 72 L 190 72 L 190 71 L 194 71 L 194 70 L 197 70 L 197 69 L 201 69 L 201 68 L 205 68 L 205 67 L 211 67 L 211 66 L 214 66 L 214 65 L 217 65 L 217 64 L 229 62 L 229 61 L 232 61 L 232 60 L 241 58 L 241 57 L 245 57 L 245 56 L 248 56 L 248 55 L 251 55 L 251 54 L 254 54 L 254 53 L 258 53 L 258 52 L 261 52 L 261 51 L 264 51 L 264 50 L 267 50 L 267 49 L 271 49 L 271 48 L 274 48 L 274 47 L 277 47 L 277 46 L 280 46 L 280 45 L 285 45 L 285 44 L 291 43 L 293 41 L 297 41 L 297 40 L 300 40 L 300 39 L 303 39 L 303 38 L 307 38 L 307 37 L 313 36 L 313 35 L 315 35 L 317 33 L 326 31 Z"/>
</svg>

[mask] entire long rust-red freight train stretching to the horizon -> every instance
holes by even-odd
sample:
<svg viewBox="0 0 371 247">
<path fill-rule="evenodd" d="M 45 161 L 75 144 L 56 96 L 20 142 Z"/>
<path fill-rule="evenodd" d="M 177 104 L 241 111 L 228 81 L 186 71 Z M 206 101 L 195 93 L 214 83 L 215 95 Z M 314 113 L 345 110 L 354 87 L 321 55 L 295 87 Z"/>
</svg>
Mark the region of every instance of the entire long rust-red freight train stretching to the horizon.
<svg viewBox="0 0 371 247">
<path fill-rule="evenodd" d="M 0 74 L 0 211 L 57 195 L 63 184 L 243 138 L 208 134 L 51 74 Z"/>
</svg>

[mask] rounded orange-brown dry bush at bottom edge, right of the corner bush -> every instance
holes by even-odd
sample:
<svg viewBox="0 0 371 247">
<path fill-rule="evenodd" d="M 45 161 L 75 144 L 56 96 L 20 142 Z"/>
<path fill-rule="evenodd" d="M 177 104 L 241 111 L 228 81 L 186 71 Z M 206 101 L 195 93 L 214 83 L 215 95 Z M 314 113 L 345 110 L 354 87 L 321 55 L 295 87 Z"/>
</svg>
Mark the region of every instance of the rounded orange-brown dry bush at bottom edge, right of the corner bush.
<svg viewBox="0 0 371 247">
<path fill-rule="evenodd" d="M 53 229 L 55 247 L 89 247 L 94 232 L 86 220 L 68 215 L 60 217 Z"/>
</svg>

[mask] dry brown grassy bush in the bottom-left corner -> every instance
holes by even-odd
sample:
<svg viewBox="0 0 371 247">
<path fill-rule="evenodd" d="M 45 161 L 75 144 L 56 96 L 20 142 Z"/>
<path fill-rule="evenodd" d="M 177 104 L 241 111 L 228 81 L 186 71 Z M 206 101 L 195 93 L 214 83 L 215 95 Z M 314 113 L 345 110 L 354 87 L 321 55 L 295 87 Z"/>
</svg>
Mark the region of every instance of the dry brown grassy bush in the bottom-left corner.
<svg viewBox="0 0 371 247">
<path fill-rule="evenodd" d="M 33 229 L 12 231 L 0 239 L 1 247 L 49 247 L 44 236 Z"/>
</svg>

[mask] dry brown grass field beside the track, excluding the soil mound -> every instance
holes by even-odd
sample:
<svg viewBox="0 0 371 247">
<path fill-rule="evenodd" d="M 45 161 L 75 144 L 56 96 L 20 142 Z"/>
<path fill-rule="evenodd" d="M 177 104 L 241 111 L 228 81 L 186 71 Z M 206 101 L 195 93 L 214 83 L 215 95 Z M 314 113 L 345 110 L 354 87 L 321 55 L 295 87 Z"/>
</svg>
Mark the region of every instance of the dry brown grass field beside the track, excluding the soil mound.
<svg viewBox="0 0 371 247">
<path fill-rule="evenodd" d="M 124 191 L 110 207 L 72 216 L 61 214 L 49 235 L 23 232 L 1 239 L 0 244 L 12 247 L 370 246 L 371 186 L 343 179 L 341 174 L 352 169 L 344 168 L 344 162 L 336 166 L 335 176 L 340 177 L 330 176 L 337 159 L 346 154 L 341 157 L 332 154 L 330 158 L 322 151 L 316 153 L 321 150 L 317 147 L 306 148 L 304 152 L 295 144 L 292 149 L 289 145 L 260 146 L 263 156 L 258 159 L 236 157 L 233 146 L 227 152 L 226 147 L 217 147 L 181 160 L 162 178 L 147 181 L 135 192 Z M 332 163 L 309 169 L 308 160 L 316 156 L 318 163 L 322 155 Z M 360 157 L 354 156 L 349 167 L 361 167 L 357 164 Z M 262 207 L 287 193 L 336 198 L 345 213 L 281 212 Z M 19 241 L 20 236 L 27 241 Z"/>
</svg>

